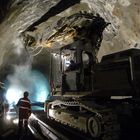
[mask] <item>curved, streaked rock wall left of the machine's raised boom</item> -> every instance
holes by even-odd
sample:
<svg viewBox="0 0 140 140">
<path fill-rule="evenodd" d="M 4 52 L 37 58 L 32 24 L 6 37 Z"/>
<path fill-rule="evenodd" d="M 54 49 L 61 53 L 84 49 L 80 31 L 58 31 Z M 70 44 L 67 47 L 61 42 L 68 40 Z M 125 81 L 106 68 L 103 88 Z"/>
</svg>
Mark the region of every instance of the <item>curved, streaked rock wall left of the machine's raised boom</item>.
<svg viewBox="0 0 140 140">
<path fill-rule="evenodd" d="M 3 80 L 12 71 L 13 65 L 23 64 L 29 59 L 21 33 L 58 2 L 59 0 L 13 0 L 7 12 L 1 8 L 5 15 L 0 15 L 0 79 Z"/>
</svg>

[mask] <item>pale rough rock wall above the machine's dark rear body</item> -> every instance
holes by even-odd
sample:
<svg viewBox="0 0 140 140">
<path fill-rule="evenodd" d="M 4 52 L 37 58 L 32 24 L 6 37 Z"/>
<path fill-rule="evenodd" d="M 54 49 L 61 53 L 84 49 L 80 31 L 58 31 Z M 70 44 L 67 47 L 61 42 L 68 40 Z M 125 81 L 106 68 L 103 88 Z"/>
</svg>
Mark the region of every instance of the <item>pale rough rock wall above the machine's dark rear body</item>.
<svg viewBox="0 0 140 140">
<path fill-rule="evenodd" d="M 84 0 L 83 0 L 84 1 Z M 99 13 L 111 25 L 104 32 L 99 52 L 103 54 L 139 48 L 140 1 L 139 0 L 87 0 L 90 9 Z M 94 1 L 94 2 L 93 2 Z M 86 2 L 86 0 L 85 0 Z"/>
</svg>

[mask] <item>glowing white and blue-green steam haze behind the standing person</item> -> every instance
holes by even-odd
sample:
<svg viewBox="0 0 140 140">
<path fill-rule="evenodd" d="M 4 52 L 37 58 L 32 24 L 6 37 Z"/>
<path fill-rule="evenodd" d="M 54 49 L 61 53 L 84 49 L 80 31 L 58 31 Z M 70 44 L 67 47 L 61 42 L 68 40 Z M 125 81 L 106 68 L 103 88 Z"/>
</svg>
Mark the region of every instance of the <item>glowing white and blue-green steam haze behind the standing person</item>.
<svg viewBox="0 0 140 140">
<path fill-rule="evenodd" d="M 44 102 L 49 97 L 46 76 L 32 69 L 33 58 L 25 51 L 22 40 L 17 38 L 13 48 L 15 57 L 11 58 L 12 73 L 6 79 L 6 99 L 10 104 L 17 103 L 24 91 L 28 91 L 32 102 Z"/>
</svg>

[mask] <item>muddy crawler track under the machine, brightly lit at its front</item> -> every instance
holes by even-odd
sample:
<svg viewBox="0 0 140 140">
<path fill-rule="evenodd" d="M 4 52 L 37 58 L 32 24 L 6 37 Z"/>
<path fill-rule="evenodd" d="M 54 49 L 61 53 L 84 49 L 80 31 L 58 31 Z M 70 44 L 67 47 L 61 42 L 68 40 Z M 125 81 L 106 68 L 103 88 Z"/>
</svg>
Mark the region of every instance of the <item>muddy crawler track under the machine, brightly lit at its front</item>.
<svg viewBox="0 0 140 140">
<path fill-rule="evenodd" d="M 60 101 L 49 103 L 48 116 L 56 121 L 101 140 L 118 140 L 120 126 L 113 109 L 93 101 Z"/>
</svg>

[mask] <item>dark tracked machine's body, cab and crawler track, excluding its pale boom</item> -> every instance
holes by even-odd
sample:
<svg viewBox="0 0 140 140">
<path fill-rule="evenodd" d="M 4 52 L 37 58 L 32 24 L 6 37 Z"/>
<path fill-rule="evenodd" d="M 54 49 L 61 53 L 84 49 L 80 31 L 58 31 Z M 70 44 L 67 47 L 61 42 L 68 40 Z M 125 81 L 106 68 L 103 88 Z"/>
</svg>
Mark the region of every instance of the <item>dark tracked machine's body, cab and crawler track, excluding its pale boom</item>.
<svg viewBox="0 0 140 140">
<path fill-rule="evenodd" d="M 85 13 L 82 18 L 86 26 L 72 25 L 74 42 L 59 49 L 59 69 L 53 67 L 56 58 L 51 60 L 52 96 L 45 103 L 47 118 L 93 138 L 118 140 L 122 123 L 130 118 L 139 121 L 140 50 L 105 55 L 98 62 L 102 32 L 108 23 Z M 67 66 L 71 59 L 75 61 L 72 68 Z"/>
</svg>

